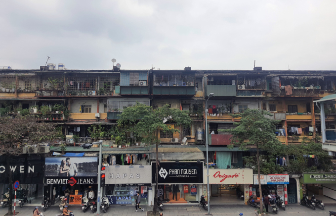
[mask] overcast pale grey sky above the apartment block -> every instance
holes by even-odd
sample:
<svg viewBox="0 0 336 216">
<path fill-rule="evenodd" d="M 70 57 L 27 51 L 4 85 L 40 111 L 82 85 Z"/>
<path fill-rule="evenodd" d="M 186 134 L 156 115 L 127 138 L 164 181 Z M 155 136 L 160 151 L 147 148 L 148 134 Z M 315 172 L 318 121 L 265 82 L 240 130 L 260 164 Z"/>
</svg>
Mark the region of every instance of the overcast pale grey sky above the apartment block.
<svg viewBox="0 0 336 216">
<path fill-rule="evenodd" d="M 336 0 L 1 0 L 0 66 L 336 70 Z"/>
</svg>

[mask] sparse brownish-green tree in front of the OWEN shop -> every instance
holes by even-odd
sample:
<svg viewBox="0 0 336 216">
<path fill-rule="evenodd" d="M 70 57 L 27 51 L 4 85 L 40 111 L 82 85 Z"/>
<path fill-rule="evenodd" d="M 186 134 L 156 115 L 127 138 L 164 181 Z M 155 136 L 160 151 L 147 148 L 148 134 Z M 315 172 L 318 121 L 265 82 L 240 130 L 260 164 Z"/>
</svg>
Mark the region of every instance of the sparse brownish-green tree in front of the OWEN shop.
<svg viewBox="0 0 336 216">
<path fill-rule="evenodd" d="M 10 157 L 22 153 L 22 147 L 44 141 L 50 141 L 56 136 L 54 124 L 37 123 L 33 117 L 0 118 L 0 156 L 6 157 L 6 166 L 9 167 Z M 9 194 L 12 193 L 12 171 L 8 170 Z M 12 213 L 12 197 L 8 198 L 8 215 Z"/>
</svg>

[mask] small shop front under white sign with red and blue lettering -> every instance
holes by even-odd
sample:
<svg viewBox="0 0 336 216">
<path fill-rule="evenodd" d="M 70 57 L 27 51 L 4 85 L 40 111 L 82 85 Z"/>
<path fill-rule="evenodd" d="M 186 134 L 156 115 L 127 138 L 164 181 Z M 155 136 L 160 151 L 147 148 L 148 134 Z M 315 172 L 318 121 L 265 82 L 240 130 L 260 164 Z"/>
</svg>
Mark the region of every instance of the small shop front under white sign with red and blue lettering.
<svg viewBox="0 0 336 216">
<path fill-rule="evenodd" d="M 253 183 L 254 184 L 250 186 L 250 196 L 256 195 L 256 197 L 259 197 L 259 181 L 257 174 L 253 175 Z M 268 194 L 278 195 L 286 205 L 288 204 L 287 185 L 290 183 L 288 174 L 260 175 L 260 183 L 262 196 Z"/>
</svg>

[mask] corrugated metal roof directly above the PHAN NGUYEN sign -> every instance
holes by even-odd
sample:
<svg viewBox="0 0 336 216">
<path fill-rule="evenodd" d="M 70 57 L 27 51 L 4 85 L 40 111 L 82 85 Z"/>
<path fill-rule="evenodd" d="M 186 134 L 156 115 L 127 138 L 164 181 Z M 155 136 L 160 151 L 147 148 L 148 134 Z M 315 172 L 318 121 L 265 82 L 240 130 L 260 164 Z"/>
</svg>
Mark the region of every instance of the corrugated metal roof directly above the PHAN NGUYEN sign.
<svg viewBox="0 0 336 216">
<path fill-rule="evenodd" d="M 169 160 L 169 161 L 195 161 L 204 160 L 203 152 L 159 152 L 159 160 Z M 156 153 L 151 154 L 151 159 L 156 158 Z"/>
</svg>

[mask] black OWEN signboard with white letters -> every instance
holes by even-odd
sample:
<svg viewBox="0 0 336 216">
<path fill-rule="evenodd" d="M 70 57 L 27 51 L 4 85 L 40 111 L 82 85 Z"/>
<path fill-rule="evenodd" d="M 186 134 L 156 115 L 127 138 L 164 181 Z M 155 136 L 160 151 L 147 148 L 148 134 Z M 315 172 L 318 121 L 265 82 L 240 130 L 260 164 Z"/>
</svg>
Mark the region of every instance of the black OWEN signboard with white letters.
<svg viewBox="0 0 336 216">
<path fill-rule="evenodd" d="M 9 166 L 7 165 L 9 160 Z M 20 184 L 43 184 L 44 157 L 31 154 L 11 156 L 0 156 L 0 183 L 8 184 L 8 172 L 12 170 L 12 182 L 20 181 Z"/>
</svg>

